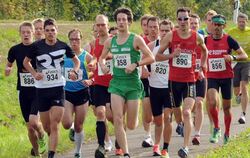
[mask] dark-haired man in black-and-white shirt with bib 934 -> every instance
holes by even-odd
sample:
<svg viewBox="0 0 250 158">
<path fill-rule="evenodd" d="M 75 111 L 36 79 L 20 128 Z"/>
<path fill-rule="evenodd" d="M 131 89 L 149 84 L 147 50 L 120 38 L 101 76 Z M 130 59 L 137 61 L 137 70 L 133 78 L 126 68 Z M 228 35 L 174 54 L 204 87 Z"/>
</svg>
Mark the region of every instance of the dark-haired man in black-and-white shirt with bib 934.
<svg viewBox="0 0 250 158">
<path fill-rule="evenodd" d="M 44 22 L 45 39 L 32 45 L 32 52 L 24 59 L 24 67 L 36 79 L 38 110 L 45 131 L 49 135 L 48 157 L 54 157 L 59 137 L 59 123 L 64 112 L 65 79 L 62 75 L 63 57 L 72 58 L 75 66 L 70 78 L 77 78 L 80 62 L 70 47 L 57 39 L 57 25 L 54 19 Z M 30 64 L 36 60 L 36 68 Z"/>
</svg>

